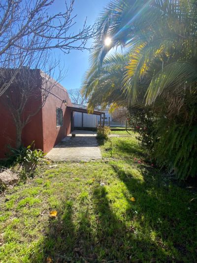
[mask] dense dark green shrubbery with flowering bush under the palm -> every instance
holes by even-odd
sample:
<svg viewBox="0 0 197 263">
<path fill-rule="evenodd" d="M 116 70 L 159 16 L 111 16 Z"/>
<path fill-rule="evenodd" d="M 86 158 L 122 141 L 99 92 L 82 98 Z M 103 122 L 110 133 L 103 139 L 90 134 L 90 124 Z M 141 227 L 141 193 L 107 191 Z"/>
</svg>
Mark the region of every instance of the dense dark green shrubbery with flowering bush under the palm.
<svg viewBox="0 0 197 263">
<path fill-rule="evenodd" d="M 134 108 L 129 109 L 128 121 L 151 161 L 181 180 L 197 176 L 197 125 Z"/>
</svg>

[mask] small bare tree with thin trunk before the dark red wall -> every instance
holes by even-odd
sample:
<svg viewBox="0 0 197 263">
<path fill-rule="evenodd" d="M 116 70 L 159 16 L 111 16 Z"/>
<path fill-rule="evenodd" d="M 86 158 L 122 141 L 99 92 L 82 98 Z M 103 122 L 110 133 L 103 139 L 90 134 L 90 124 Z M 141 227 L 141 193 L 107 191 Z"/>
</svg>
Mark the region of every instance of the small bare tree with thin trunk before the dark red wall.
<svg viewBox="0 0 197 263">
<path fill-rule="evenodd" d="M 52 60 L 47 52 L 41 51 L 36 56 L 34 53 L 29 56 L 28 66 L 20 70 L 0 69 L 0 85 L 12 79 L 9 89 L 0 97 L 0 104 L 12 115 L 16 127 L 16 148 L 21 146 L 24 127 L 44 106 L 52 88 L 64 78 L 61 69 L 57 75 L 57 65 L 59 60 Z M 35 69 L 31 69 L 33 67 Z M 53 78 L 55 73 L 56 80 Z"/>
</svg>

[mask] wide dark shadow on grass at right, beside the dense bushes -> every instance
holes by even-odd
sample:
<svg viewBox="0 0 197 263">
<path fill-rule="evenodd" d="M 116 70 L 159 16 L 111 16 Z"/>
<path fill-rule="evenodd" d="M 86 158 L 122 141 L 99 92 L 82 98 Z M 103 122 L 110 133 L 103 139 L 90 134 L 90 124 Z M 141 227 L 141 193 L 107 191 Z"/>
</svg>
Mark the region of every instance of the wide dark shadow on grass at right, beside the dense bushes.
<svg viewBox="0 0 197 263">
<path fill-rule="evenodd" d="M 197 224 L 194 216 L 197 207 L 190 203 L 188 210 L 185 190 L 170 183 L 167 185 L 161 179 L 161 174 L 151 169 L 142 169 L 143 180 L 137 180 L 118 165 L 112 164 L 112 167 L 130 193 L 125 197 L 128 201 L 131 196 L 135 198 L 136 219 L 145 233 L 145 239 L 148 236 L 150 238 L 144 251 L 147 254 L 152 251 L 152 259 L 149 255 L 144 260 L 193 262 L 196 254 L 194 244 Z M 147 235 L 147 231 L 153 234 Z"/>
</svg>

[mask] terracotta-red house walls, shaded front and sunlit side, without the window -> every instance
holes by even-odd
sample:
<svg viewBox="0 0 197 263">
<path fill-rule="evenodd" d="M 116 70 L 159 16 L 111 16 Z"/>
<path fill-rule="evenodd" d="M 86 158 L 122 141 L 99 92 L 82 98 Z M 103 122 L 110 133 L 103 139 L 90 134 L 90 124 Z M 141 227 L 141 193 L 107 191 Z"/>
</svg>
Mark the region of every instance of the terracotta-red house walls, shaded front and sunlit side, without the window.
<svg viewBox="0 0 197 263">
<path fill-rule="evenodd" d="M 38 70 L 36 72 L 39 73 Z M 39 78 L 39 76 L 38 76 Z M 9 88 L 9 93 L 11 92 L 16 98 L 20 94 L 17 94 L 18 89 Z M 38 92 L 40 88 L 37 89 Z M 4 106 L 3 100 L 6 99 L 6 93 L 0 97 L 0 158 L 5 157 L 5 152 L 7 152 L 7 145 L 15 147 L 16 141 L 16 128 L 11 113 Z M 38 109 L 42 103 L 42 97 L 40 93 L 39 96 L 36 95 L 36 99 L 31 97 L 31 100 L 27 103 L 25 108 L 25 114 L 34 112 Z M 63 100 L 67 101 L 67 106 L 72 106 L 72 103 L 68 97 L 66 89 L 60 84 L 56 84 L 50 91 L 50 94 L 45 102 L 43 108 L 31 117 L 28 124 L 25 126 L 22 133 L 22 142 L 24 146 L 28 146 L 31 142 L 35 141 L 35 148 L 44 150 L 45 152 L 51 150 L 55 145 L 57 145 L 61 140 L 70 133 L 70 110 L 66 109 Z M 63 110 L 63 126 L 56 126 L 56 108 L 61 108 Z"/>
</svg>

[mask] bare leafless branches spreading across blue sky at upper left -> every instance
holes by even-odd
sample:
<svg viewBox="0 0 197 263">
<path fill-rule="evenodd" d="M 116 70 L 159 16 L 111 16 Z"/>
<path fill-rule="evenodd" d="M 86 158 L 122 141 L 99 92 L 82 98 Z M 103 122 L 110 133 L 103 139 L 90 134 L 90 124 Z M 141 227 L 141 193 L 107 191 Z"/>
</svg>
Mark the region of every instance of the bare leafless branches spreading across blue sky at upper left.
<svg viewBox="0 0 197 263">
<path fill-rule="evenodd" d="M 0 1 L 0 68 L 27 66 L 29 56 L 40 51 L 61 49 L 87 49 L 87 40 L 94 29 L 86 20 L 77 33 L 72 32 L 75 17 L 72 15 L 74 0 L 66 0 L 63 12 L 53 13 L 55 0 L 1 0 Z M 0 86 L 0 96 L 6 91 L 17 71 L 8 83 Z"/>
</svg>

